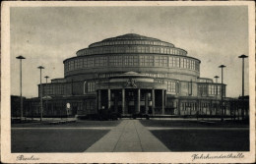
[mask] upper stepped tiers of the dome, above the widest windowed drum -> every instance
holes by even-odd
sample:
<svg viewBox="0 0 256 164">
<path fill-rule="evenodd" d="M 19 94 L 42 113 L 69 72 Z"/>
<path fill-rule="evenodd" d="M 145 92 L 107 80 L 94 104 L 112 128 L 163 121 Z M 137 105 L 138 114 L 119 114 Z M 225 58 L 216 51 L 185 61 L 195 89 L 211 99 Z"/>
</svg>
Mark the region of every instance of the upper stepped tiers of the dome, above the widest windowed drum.
<svg viewBox="0 0 256 164">
<path fill-rule="evenodd" d="M 128 33 L 116 37 L 103 39 L 91 44 L 88 48 L 77 52 L 78 56 L 115 53 L 152 53 L 187 55 L 183 49 L 160 39 L 147 37 L 135 33 Z"/>
</svg>

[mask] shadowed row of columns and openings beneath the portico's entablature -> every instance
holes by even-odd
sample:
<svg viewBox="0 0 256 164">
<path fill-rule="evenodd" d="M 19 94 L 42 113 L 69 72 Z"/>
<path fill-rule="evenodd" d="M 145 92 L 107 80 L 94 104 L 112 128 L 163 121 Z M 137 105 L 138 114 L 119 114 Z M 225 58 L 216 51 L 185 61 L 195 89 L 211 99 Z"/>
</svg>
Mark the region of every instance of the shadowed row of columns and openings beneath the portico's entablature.
<svg viewBox="0 0 256 164">
<path fill-rule="evenodd" d="M 157 93 L 157 96 L 155 94 Z M 162 90 L 121 88 L 97 90 L 98 110 L 109 110 L 124 115 L 159 114 L 164 112 Z M 161 110 L 162 109 L 162 110 Z"/>
</svg>

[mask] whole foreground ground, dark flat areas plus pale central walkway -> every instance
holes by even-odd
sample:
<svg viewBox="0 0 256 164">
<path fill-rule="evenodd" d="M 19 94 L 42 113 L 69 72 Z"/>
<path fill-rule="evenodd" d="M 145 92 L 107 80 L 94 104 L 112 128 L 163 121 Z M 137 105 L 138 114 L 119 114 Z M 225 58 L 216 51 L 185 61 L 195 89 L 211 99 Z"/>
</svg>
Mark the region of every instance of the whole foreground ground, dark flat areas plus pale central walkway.
<svg viewBox="0 0 256 164">
<path fill-rule="evenodd" d="M 220 140 L 222 140 L 220 142 Z M 235 142 L 235 144 L 233 144 Z M 198 121 L 78 121 L 12 125 L 12 152 L 169 152 L 249 150 L 248 125 Z"/>
</svg>

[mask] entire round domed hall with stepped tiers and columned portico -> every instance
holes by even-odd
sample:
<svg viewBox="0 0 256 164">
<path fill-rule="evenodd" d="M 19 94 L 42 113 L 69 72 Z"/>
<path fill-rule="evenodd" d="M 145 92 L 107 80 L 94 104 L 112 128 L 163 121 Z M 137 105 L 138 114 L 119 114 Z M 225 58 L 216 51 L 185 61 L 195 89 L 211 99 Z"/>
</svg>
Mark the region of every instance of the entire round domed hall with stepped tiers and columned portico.
<svg viewBox="0 0 256 164">
<path fill-rule="evenodd" d="M 222 83 L 201 78 L 199 59 L 157 38 L 134 33 L 107 38 L 63 63 L 63 79 L 41 84 L 45 116 L 102 110 L 123 117 L 220 114 Z M 38 102 L 33 100 L 34 115 Z"/>
</svg>

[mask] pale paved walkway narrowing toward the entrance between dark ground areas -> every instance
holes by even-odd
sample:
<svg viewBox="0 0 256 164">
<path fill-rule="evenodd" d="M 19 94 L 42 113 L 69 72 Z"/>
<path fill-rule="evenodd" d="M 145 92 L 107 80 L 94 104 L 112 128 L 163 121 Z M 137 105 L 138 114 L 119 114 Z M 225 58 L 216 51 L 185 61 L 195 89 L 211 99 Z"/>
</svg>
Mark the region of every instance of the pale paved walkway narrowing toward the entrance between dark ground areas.
<svg viewBox="0 0 256 164">
<path fill-rule="evenodd" d="M 124 120 L 100 138 L 86 152 L 153 152 L 169 151 L 138 120 Z"/>
</svg>

